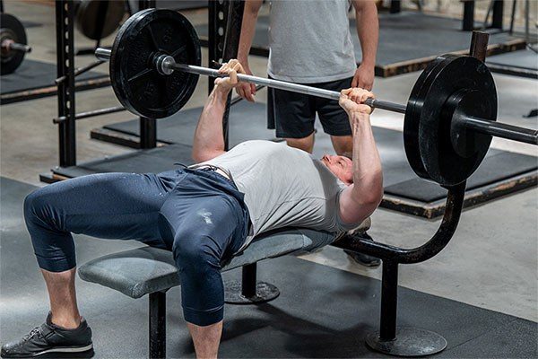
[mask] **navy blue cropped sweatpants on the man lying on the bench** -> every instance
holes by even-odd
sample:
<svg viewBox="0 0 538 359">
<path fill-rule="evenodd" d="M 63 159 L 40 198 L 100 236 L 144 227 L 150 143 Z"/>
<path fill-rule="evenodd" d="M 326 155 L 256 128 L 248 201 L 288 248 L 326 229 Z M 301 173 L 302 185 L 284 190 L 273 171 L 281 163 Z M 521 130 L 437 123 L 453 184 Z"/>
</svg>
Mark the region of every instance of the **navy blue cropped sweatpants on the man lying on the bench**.
<svg viewBox="0 0 538 359">
<path fill-rule="evenodd" d="M 211 170 L 105 173 L 39 188 L 24 201 L 39 267 L 75 267 L 71 235 L 138 240 L 172 251 L 181 276 L 185 320 L 222 320 L 221 266 L 248 232 L 243 194 Z"/>
</svg>

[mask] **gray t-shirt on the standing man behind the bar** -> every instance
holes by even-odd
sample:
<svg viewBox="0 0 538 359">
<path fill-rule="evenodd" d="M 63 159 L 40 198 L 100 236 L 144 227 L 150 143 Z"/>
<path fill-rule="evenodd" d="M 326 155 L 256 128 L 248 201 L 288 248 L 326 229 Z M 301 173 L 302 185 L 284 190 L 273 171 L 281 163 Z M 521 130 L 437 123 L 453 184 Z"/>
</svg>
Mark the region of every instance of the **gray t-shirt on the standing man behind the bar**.
<svg viewBox="0 0 538 359">
<path fill-rule="evenodd" d="M 349 0 L 273 0 L 269 65 L 275 79 L 325 83 L 355 74 Z"/>
</svg>

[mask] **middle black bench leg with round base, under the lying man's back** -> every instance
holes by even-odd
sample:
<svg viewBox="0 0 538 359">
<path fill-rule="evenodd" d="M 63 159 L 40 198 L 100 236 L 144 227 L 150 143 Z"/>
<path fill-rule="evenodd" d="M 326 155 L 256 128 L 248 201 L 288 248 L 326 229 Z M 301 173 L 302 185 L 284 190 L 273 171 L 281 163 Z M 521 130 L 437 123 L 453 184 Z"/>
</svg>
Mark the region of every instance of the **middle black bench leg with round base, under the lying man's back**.
<svg viewBox="0 0 538 359">
<path fill-rule="evenodd" d="M 224 283 L 224 302 L 229 304 L 258 304 L 273 301 L 280 295 L 274 285 L 256 281 L 256 263 L 243 268 L 243 278 Z"/>
</svg>

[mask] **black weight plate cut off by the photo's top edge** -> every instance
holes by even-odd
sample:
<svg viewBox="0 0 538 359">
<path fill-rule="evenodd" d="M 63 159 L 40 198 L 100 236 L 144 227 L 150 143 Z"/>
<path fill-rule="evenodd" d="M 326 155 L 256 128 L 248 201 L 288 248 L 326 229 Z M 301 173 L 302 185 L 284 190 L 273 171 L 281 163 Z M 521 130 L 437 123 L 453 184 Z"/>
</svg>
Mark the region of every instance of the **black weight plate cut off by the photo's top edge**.
<svg viewBox="0 0 538 359">
<path fill-rule="evenodd" d="M 101 6 L 102 9 L 101 10 Z M 103 39 L 116 31 L 126 14 L 126 4 L 121 0 L 80 0 L 75 6 L 76 28 L 89 39 Z M 105 13 L 104 20 L 101 12 Z M 102 21 L 102 29 L 100 22 Z"/>
</svg>

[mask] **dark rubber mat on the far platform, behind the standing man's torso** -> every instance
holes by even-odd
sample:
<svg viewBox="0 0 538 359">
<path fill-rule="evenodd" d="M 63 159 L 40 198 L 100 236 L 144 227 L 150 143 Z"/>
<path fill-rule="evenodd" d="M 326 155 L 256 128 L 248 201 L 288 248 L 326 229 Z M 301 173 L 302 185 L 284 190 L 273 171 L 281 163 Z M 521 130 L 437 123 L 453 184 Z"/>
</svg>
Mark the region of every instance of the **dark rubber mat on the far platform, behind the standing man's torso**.
<svg viewBox="0 0 538 359">
<path fill-rule="evenodd" d="M 380 13 L 376 66 L 379 67 L 379 70 L 398 66 L 399 63 L 403 62 L 408 66 L 413 61 L 420 63 L 426 58 L 436 57 L 447 52 L 468 50 L 471 43 L 471 32 L 461 31 L 461 26 L 460 19 L 424 13 Z M 269 54 L 268 28 L 269 17 L 259 16 L 252 45 L 256 55 L 268 56 Z M 350 29 L 351 39 L 355 46 L 355 57 L 360 63 L 360 42 L 354 20 L 350 21 Z M 196 31 L 202 39 L 207 39 L 207 25 L 196 26 Z M 498 45 L 516 39 L 518 38 L 509 36 L 506 32 L 491 33 L 489 44 L 490 46 Z M 379 74 L 378 69 L 376 71 L 377 75 L 389 75 Z M 396 73 L 402 72 L 408 71 L 396 71 Z"/>
</svg>

